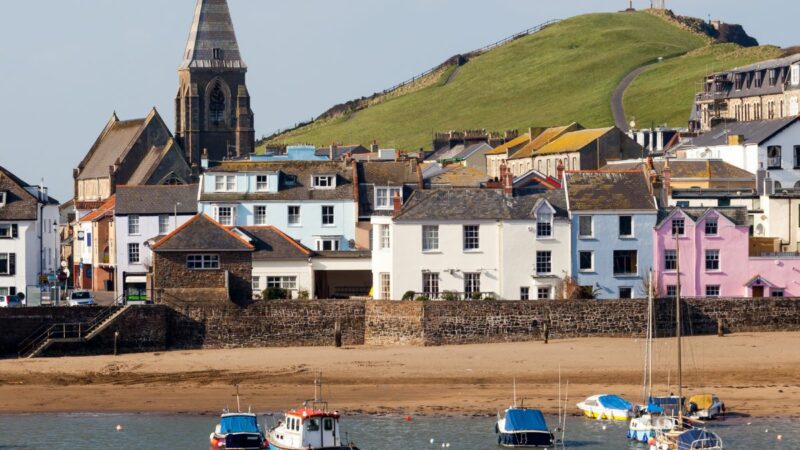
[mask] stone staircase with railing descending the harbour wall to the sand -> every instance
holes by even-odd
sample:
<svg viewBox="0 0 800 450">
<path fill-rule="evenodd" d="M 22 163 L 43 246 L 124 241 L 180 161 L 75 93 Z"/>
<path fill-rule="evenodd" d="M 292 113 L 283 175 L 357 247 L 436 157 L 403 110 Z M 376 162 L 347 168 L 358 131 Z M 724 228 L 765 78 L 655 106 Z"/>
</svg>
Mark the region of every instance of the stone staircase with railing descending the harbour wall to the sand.
<svg viewBox="0 0 800 450">
<path fill-rule="evenodd" d="M 94 339 L 130 308 L 108 307 L 89 322 L 57 323 L 37 330 L 19 346 L 20 358 L 35 358 L 56 343 L 83 343 Z"/>
</svg>

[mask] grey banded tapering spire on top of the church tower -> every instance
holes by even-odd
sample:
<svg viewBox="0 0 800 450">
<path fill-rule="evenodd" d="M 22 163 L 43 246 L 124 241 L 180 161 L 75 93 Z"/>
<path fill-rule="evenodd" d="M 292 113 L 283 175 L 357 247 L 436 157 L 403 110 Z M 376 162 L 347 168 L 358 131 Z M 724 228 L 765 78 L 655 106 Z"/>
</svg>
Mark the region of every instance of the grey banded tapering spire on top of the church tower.
<svg viewBox="0 0 800 450">
<path fill-rule="evenodd" d="M 247 69 L 227 0 L 197 0 L 180 68 Z"/>
</svg>

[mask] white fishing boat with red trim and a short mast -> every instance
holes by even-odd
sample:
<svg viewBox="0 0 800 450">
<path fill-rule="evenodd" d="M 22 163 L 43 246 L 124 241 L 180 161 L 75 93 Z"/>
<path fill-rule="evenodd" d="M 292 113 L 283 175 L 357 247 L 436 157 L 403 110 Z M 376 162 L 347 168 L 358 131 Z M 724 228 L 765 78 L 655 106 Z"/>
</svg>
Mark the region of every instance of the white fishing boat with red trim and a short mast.
<svg viewBox="0 0 800 450">
<path fill-rule="evenodd" d="M 339 426 L 341 415 L 329 411 L 321 398 L 322 378 L 314 381 L 314 400 L 302 408 L 288 411 L 283 420 L 267 436 L 270 450 L 358 450 L 353 443 L 342 439 Z"/>
</svg>

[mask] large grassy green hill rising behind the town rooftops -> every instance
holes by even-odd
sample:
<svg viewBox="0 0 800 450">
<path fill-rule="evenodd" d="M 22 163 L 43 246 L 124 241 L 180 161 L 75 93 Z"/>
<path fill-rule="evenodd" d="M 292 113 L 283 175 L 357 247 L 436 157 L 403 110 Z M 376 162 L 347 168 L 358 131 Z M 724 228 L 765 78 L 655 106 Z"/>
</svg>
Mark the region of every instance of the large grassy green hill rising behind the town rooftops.
<svg viewBox="0 0 800 450">
<path fill-rule="evenodd" d="M 321 146 L 377 140 L 384 147 L 416 149 L 430 145 L 433 131 L 526 129 L 572 121 L 607 126 L 613 123 L 611 93 L 628 72 L 658 57 L 697 51 L 647 72 L 636 83 L 636 93 L 625 98 L 628 115 L 664 117 L 659 123 L 683 116 L 685 123 L 697 75 L 705 73 L 709 58 L 718 58 L 719 68 L 760 59 L 734 46 L 704 55 L 702 49 L 709 45 L 706 36 L 646 12 L 578 16 L 472 58 L 449 83 L 443 80 L 452 71 L 442 71 L 440 82 L 390 96 L 352 115 L 318 120 L 271 142 Z M 727 64 L 729 57 L 735 62 Z M 681 64 L 692 67 L 681 72 Z M 688 93 L 689 103 L 654 101 L 648 78 L 655 77 L 651 81 L 661 94 L 672 89 L 676 72 L 681 81 L 677 98 L 684 102 Z M 667 98 L 676 98 L 671 95 Z"/>
</svg>

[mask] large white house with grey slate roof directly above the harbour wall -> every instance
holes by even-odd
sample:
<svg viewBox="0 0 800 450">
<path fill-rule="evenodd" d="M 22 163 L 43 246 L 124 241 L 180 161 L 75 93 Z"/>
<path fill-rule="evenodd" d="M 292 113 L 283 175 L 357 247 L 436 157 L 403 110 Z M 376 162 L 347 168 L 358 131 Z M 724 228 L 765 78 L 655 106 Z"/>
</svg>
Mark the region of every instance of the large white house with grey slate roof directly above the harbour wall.
<svg viewBox="0 0 800 450">
<path fill-rule="evenodd" d="M 373 297 L 549 299 L 570 270 L 563 191 L 417 191 L 373 224 Z M 505 185 L 504 185 L 505 186 Z"/>
</svg>

